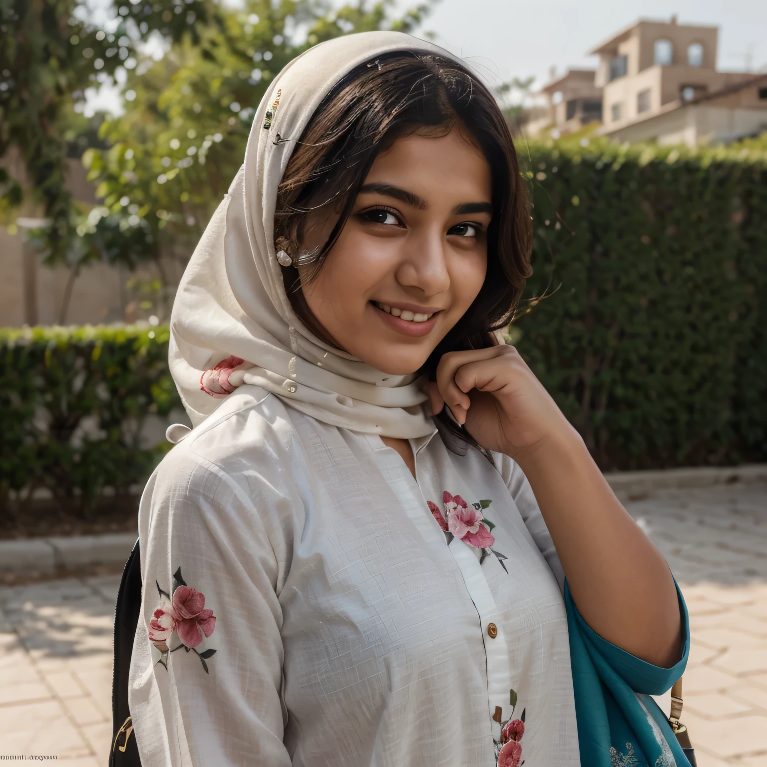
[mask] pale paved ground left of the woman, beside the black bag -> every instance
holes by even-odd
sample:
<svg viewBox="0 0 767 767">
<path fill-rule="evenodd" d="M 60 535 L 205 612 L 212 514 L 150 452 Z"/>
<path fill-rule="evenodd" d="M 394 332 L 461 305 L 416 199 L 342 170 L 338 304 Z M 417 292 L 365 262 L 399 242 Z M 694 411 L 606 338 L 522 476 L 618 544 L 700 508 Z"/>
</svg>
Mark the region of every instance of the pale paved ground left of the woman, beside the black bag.
<svg viewBox="0 0 767 767">
<path fill-rule="evenodd" d="M 119 575 L 0 588 L 0 757 L 106 767 Z"/>
</svg>

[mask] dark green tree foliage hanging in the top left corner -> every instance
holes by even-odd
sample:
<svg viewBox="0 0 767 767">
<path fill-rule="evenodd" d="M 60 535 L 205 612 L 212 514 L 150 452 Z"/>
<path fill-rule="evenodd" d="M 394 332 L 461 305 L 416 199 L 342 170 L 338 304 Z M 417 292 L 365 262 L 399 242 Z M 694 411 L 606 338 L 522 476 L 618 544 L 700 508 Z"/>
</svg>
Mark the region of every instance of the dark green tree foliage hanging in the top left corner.
<svg viewBox="0 0 767 767">
<path fill-rule="evenodd" d="M 196 39 L 216 6 L 210 0 L 130 0 L 100 28 L 83 0 L 0 0 L 0 159 L 21 154 L 32 202 L 51 226 L 43 233 L 51 262 L 76 247 L 80 210 L 64 178 L 62 127 L 87 87 L 114 81 L 137 63 L 137 44 L 159 33 Z M 0 213 L 21 204 L 24 189 L 0 171 Z"/>
</svg>

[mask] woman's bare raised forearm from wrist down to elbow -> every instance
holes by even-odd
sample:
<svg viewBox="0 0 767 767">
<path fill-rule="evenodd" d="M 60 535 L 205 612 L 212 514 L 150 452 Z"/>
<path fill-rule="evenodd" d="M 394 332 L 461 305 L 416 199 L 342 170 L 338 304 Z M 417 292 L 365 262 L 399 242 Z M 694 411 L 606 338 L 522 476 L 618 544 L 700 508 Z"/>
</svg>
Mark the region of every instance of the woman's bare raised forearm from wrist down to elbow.
<svg viewBox="0 0 767 767">
<path fill-rule="evenodd" d="M 574 430 L 515 455 L 584 620 L 657 666 L 680 656 L 680 610 L 660 554 L 615 497 Z"/>
</svg>

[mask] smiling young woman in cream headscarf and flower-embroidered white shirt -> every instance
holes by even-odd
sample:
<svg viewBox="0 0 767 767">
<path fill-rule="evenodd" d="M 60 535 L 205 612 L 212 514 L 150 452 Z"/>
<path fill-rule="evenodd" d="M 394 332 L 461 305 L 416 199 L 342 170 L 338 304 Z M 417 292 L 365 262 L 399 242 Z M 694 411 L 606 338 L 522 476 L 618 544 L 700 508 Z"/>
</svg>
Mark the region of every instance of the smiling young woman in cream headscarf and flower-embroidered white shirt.
<svg viewBox="0 0 767 767">
<path fill-rule="evenodd" d="M 173 308 L 144 765 L 686 764 L 642 695 L 686 658 L 673 578 L 496 332 L 530 242 L 446 51 L 352 35 L 275 78 Z"/>
</svg>

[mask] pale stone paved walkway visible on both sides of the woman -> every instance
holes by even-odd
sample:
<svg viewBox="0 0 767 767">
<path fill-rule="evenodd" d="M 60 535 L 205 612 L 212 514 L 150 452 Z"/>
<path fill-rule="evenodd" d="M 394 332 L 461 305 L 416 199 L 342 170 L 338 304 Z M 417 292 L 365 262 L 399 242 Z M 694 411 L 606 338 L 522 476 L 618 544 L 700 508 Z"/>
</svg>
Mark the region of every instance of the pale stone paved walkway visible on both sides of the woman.
<svg viewBox="0 0 767 767">
<path fill-rule="evenodd" d="M 767 485 L 664 490 L 627 508 L 690 607 L 683 720 L 698 764 L 767 767 Z M 119 581 L 0 588 L 0 757 L 106 767 Z"/>
</svg>

